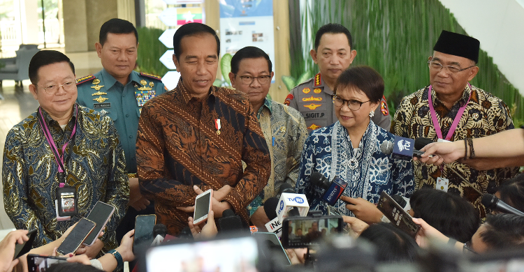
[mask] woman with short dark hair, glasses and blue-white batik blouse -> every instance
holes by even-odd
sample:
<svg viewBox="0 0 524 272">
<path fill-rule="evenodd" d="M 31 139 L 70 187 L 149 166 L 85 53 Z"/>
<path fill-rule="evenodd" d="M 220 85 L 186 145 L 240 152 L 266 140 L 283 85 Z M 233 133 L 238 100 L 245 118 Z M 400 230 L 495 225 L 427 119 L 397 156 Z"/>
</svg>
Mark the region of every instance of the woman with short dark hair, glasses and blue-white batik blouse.
<svg viewBox="0 0 524 272">
<path fill-rule="evenodd" d="M 393 134 L 370 120 L 384 94 L 384 80 L 373 68 L 357 66 L 342 72 L 333 92 L 338 121 L 308 137 L 296 191 L 306 195 L 310 210 L 378 222 L 381 213 L 373 204 L 382 191 L 405 197 L 414 191 L 411 161 L 393 158 Z M 351 204 L 338 199 L 330 206 L 323 201 L 326 190 L 310 181 L 313 172 L 347 183 L 342 198 Z"/>
</svg>

